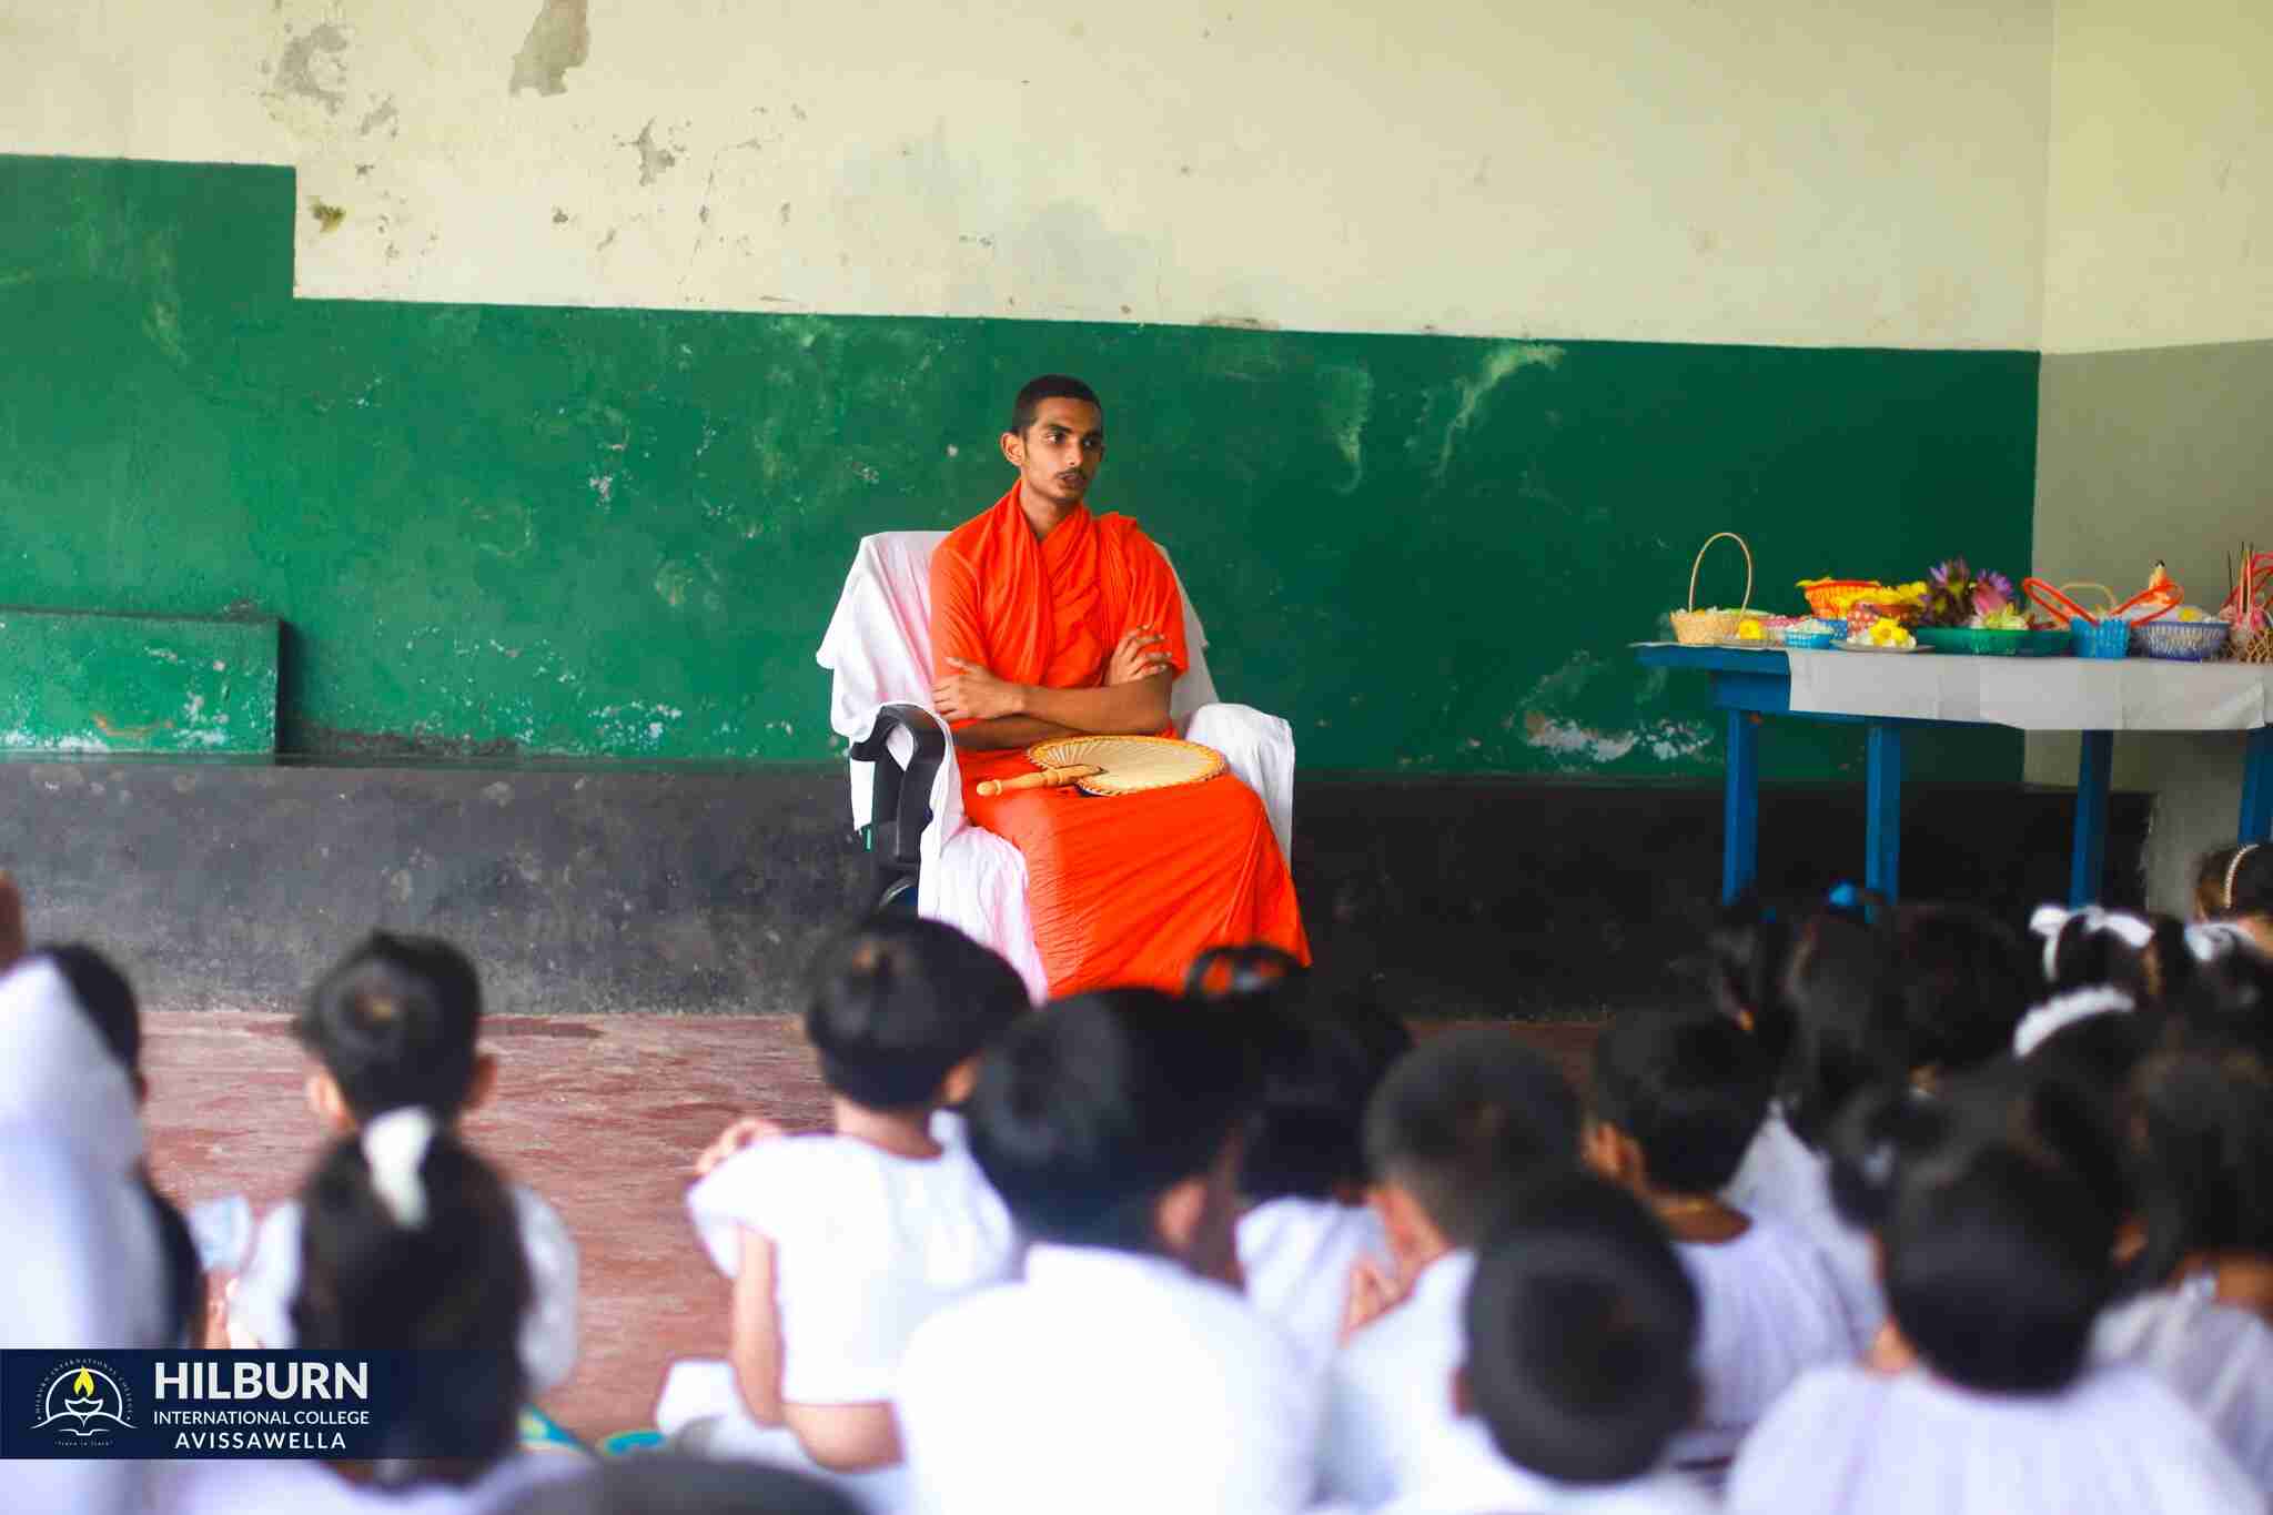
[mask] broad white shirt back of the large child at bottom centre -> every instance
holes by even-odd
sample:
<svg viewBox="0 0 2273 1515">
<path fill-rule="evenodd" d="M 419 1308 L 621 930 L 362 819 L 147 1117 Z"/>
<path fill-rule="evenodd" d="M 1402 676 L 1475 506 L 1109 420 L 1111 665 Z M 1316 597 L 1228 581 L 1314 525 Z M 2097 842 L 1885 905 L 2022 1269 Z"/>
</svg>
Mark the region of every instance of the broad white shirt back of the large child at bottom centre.
<svg viewBox="0 0 2273 1515">
<path fill-rule="evenodd" d="M 1318 1388 L 1255 1306 L 1180 1263 L 1036 1245 L 900 1367 L 925 1515 L 1296 1515 Z"/>
</svg>

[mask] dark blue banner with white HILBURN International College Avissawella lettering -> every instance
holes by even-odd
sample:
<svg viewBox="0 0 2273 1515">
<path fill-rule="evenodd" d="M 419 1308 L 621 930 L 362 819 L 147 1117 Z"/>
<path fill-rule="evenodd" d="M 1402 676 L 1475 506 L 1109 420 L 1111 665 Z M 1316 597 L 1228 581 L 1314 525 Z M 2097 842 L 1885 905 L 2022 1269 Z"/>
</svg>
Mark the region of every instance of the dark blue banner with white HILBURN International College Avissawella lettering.
<svg viewBox="0 0 2273 1515">
<path fill-rule="evenodd" d="M 491 1456 L 511 1376 L 480 1351 L 0 1351 L 0 1458 Z"/>
</svg>

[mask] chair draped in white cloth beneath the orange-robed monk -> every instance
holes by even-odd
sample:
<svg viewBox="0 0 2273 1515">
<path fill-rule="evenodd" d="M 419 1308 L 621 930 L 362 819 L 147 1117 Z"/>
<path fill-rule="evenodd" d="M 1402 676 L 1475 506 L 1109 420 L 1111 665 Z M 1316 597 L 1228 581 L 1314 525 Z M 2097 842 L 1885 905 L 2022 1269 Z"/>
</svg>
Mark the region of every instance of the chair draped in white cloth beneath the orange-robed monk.
<svg viewBox="0 0 2273 1515">
<path fill-rule="evenodd" d="M 905 906 L 914 893 L 918 915 L 943 920 L 1000 952 L 1025 979 L 1027 993 L 1043 999 L 1048 974 L 1034 949 L 1025 859 L 1009 840 L 964 815 L 955 743 L 932 709 L 932 552 L 946 536 L 864 536 L 814 659 L 834 675 L 830 727 L 850 743 L 852 827 L 866 831 L 882 874 L 877 909 Z M 1177 736 L 1221 752 L 1257 793 L 1280 852 L 1291 861 L 1293 727 L 1216 700 L 1207 634 L 1191 595 L 1182 591 L 1177 579 L 1191 668 L 1175 681 L 1168 715 Z"/>
</svg>

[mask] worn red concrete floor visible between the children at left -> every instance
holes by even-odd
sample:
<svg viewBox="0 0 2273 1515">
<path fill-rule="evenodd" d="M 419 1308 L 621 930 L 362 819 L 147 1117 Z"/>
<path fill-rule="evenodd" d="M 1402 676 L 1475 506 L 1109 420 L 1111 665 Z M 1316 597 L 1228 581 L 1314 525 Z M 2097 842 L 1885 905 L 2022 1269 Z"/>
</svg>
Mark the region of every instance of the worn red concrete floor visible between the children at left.
<svg viewBox="0 0 2273 1515">
<path fill-rule="evenodd" d="M 323 1147 L 307 1061 L 284 1015 L 143 1018 L 152 1174 L 184 1208 L 298 1188 Z M 1591 1024 L 1518 1024 L 1566 1070 Z M 582 1252 L 582 1351 L 546 1408 L 586 1438 L 646 1426 L 664 1367 L 725 1354 L 727 1286 L 682 1204 L 689 1163 L 725 1122 L 827 1122 L 805 1038 L 775 1018 L 516 1015 L 484 1022 L 498 1097 L 466 1136 L 561 1213 Z"/>
</svg>

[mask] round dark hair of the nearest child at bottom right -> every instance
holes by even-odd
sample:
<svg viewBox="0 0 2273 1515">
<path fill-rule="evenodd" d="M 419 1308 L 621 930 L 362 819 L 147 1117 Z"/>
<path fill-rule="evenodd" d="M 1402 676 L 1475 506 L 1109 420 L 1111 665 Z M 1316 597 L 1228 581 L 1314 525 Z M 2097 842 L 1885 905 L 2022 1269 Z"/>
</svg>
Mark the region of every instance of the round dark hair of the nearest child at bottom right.
<svg viewBox="0 0 2273 1515">
<path fill-rule="evenodd" d="M 1887 1304 L 1943 1379 L 2048 1395 L 2084 1365 L 2114 1283 L 2114 1217 L 2084 1183 L 2005 1142 L 1905 1186 L 1880 1229 Z"/>
</svg>

